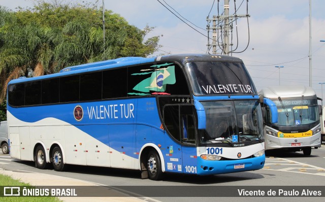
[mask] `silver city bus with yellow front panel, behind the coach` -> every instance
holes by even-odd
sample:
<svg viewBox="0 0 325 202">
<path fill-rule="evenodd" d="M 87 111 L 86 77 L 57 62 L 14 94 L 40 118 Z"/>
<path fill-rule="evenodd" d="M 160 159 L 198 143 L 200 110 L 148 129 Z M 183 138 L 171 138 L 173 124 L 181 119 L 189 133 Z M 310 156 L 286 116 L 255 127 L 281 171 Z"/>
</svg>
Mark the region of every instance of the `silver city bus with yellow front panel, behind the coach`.
<svg viewBox="0 0 325 202">
<path fill-rule="evenodd" d="M 319 114 L 321 106 L 316 92 L 306 86 L 272 86 L 258 92 L 262 98 L 273 101 L 277 112 L 271 113 L 268 103 L 263 103 L 265 124 L 265 149 L 303 151 L 311 154 L 311 147 L 321 146 Z M 277 123 L 270 117 L 278 116 Z"/>
</svg>

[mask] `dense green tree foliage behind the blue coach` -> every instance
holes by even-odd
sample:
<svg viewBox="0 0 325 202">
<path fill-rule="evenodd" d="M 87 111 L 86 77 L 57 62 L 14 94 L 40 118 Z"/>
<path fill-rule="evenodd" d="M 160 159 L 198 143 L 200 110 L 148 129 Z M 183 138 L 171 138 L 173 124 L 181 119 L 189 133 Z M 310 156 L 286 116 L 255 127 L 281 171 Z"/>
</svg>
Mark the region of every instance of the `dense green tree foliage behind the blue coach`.
<svg viewBox="0 0 325 202">
<path fill-rule="evenodd" d="M 20 76 L 56 73 L 67 66 L 157 51 L 153 27 L 139 29 L 119 14 L 95 4 L 34 0 L 34 7 L 12 12 L 0 6 L 0 101 L 8 82 Z"/>
</svg>

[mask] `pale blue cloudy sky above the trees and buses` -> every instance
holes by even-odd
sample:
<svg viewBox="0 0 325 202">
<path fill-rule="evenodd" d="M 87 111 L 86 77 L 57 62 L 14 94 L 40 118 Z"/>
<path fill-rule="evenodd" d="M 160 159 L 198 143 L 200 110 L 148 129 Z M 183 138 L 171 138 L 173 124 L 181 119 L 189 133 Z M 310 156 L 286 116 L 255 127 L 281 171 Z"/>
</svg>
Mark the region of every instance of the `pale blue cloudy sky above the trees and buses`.
<svg viewBox="0 0 325 202">
<path fill-rule="evenodd" d="M 102 1 L 97 1 L 99 8 L 103 5 Z M 160 36 L 159 44 L 163 47 L 154 54 L 158 55 L 166 52 L 207 53 L 207 16 L 212 18 L 217 15 L 217 2 L 217 0 L 104 0 L 104 5 L 106 10 L 120 14 L 129 24 L 140 29 L 146 25 L 155 27 L 148 37 Z M 246 0 L 239 7 L 241 3 L 242 0 L 236 1 L 236 8 L 239 8 L 237 14 L 246 14 Z M 176 15 L 179 13 L 183 18 L 178 16 L 191 27 L 162 4 Z M 219 14 L 223 12 L 223 4 L 224 0 L 220 0 Z M 34 4 L 32 0 L 0 0 L 0 5 L 15 11 L 17 6 L 26 8 Z M 234 0 L 230 0 L 230 14 L 234 13 L 234 6 Z M 318 97 L 323 96 L 325 99 L 325 84 L 319 84 L 325 83 L 325 42 L 320 42 L 325 40 L 325 1 L 311 0 L 311 8 L 312 88 Z M 256 89 L 259 91 L 267 86 L 279 85 L 279 71 L 281 86 L 309 86 L 309 0 L 249 0 L 248 14 L 250 15 L 248 23 L 247 18 L 237 20 L 239 42 L 237 51 L 243 51 L 247 44 L 248 47 L 244 52 L 233 53 L 232 56 L 244 61 Z M 233 33 L 235 48 L 237 45 L 235 28 Z"/>
</svg>

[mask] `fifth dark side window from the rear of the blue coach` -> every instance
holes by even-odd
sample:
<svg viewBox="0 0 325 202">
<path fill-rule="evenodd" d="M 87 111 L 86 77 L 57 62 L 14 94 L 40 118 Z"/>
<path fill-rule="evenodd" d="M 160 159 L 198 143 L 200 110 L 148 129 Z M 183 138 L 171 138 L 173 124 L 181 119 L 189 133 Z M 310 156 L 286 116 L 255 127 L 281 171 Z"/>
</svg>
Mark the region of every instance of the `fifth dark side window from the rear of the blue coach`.
<svg viewBox="0 0 325 202">
<path fill-rule="evenodd" d="M 80 101 L 102 99 L 102 72 L 80 75 Z"/>
</svg>

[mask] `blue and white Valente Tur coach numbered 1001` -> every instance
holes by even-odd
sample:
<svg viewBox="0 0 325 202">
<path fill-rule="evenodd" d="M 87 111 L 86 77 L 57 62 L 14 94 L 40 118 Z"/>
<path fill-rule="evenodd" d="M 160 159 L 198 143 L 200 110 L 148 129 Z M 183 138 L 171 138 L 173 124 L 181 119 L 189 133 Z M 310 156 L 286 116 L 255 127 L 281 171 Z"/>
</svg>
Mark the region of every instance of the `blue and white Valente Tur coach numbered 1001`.
<svg viewBox="0 0 325 202">
<path fill-rule="evenodd" d="M 10 155 L 51 163 L 214 175 L 262 169 L 261 106 L 242 60 L 126 57 L 8 84 Z"/>
</svg>

